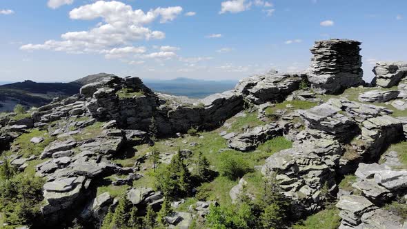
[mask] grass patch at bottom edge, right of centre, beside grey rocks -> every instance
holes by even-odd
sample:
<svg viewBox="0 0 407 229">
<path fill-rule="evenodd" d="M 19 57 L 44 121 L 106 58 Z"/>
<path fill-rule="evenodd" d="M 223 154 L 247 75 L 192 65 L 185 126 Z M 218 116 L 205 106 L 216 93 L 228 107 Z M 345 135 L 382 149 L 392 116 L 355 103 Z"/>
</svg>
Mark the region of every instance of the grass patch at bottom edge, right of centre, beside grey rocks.
<svg viewBox="0 0 407 229">
<path fill-rule="evenodd" d="M 339 210 L 335 206 L 328 206 L 304 221 L 296 223 L 292 229 L 336 229 L 341 224 L 341 217 L 338 214 Z"/>
</svg>

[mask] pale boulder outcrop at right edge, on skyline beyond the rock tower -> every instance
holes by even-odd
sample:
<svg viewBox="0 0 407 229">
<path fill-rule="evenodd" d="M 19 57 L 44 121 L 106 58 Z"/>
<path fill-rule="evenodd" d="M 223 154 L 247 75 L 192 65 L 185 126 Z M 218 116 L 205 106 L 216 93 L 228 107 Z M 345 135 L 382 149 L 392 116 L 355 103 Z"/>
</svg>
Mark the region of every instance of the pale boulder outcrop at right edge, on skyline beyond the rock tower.
<svg viewBox="0 0 407 229">
<path fill-rule="evenodd" d="M 378 62 L 373 68 L 375 78 L 373 86 L 391 88 L 399 84 L 399 81 L 407 75 L 407 62 Z"/>
</svg>

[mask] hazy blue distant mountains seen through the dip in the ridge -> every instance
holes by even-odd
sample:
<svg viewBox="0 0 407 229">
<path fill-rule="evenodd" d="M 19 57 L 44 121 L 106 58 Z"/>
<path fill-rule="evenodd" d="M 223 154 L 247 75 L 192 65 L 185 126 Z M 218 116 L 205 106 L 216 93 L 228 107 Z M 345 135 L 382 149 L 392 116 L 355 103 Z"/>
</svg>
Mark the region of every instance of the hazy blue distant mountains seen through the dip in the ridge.
<svg viewBox="0 0 407 229">
<path fill-rule="evenodd" d="M 143 83 L 156 92 L 190 98 L 203 98 L 210 94 L 231 90 L 235 88 L 237 81 L 206 81 L 180 77 L 170 80 L 144 79 Z"/>
</svg>

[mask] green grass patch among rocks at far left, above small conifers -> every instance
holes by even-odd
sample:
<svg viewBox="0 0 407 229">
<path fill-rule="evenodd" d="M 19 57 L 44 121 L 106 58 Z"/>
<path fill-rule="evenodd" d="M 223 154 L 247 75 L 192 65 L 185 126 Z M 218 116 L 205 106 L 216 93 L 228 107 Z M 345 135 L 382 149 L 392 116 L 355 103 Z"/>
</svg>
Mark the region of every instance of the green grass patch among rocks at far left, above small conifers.
<svg viewBox="0 0 407 229">
<path fill-rule="evenodd" d="M 40 143 L 32 143 L 30 140 L 33 137 L 43 137 L 44 141 Z M 49 137 L 46 130 L 32 129 L 17 137 L 12 143 L 12 148 L 19 148 L 19 155 L 30 157 L 31 155 L 40 155 L 44 148 L 54 140 L 55 138 Z"/>
</svg>

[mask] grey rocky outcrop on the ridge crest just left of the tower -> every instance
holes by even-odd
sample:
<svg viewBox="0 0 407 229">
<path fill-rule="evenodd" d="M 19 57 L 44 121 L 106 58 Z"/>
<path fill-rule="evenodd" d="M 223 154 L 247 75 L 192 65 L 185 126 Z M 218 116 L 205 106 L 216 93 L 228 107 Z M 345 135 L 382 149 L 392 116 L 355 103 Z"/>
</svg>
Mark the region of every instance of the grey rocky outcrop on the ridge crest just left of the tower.
<svg viewBox="0 0 407 229">
<path fill-rule="evenodd" d="M 306 80 L 305 74 L 279 74 L 270 70 L 266 74 L 255 75 L 242 79 L 237 84 L 237 94 L 255 104 L 268 101 L 281 102 L 288 94 L 299 89 L 299 83 Z"/>
</svg>

